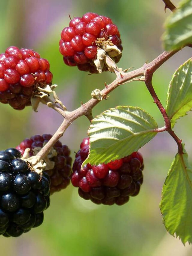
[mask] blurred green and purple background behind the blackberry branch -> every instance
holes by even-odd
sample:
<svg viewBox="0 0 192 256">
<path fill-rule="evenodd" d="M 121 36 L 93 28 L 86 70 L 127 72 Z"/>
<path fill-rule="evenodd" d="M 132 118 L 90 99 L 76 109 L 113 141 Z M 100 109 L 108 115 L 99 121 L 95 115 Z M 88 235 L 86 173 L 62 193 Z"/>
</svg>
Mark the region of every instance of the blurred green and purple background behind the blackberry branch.
<svg viewBox="0 0 192 256">
<path fill-rule="evenodd" d="M 178 1 L 173 1 L 175 4 Z M 49 60 L 56 92 L 68 110 L 90 99 L 93 89 L 104 88 L 115 76 L 105 72 L 88 75 L 76 67 L 67 67 L 58 50 L 61 30 L 68 26 L 69 15 L 82 16 L 92 11 L 112 18 L 121 32 L 124 47 L 119 62 L 122 68 L 139 68 L 162 51 L 163 24 L 170 11 L 164 12 L 161 0 L 0 0 L 0 52 L 10 45 L 32 48 Z M 191 57 L 191 49 L 183 49 L 167 61 L 153 79 L 154 87 L 164 106 L 169 81 L 176 68 Z M 163 119 L 143 82 L 120 86 L 94 110 L 98 115 L 117 105 L 139 106 L 163 126 Z M 54 110 L 41 105 L 38 113 L 30 107 L 22 111 L 9 105 L 0 106 L 1 149 L 17 146 L 24 138 L 35 134 L 53 134 L 62 121 Z M 191 114 L 179 120 L 175 131 L 191 160 Z M 74 151 L 87 136 L 89 122 L 76 120 L 61 138 Z M 167 133 L 158 134 L 145 145 L 143 154 L 144 183 L 140 194 L 124 206 L 97 206 L 79 198 L 71 185 L 51 197 L 44 223 L 19 238 L 0 237 L 1 255 L 54 256 L 158 256 L 192 255 L 189 245 L 167 234 L 159 210 L 161 189 L 176 154 L 177 147 Z"/>
</svg>

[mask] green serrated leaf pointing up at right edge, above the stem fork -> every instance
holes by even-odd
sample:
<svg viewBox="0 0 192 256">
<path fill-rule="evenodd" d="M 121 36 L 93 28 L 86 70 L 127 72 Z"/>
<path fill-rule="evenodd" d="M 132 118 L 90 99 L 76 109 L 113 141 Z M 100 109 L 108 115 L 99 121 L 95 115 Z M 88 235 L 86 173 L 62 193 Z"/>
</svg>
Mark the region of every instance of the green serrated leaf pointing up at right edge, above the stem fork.
<svg viewBox="0 0 192 256">
<path fill-rule="evenodd" d="M 172 128 L 176 120 L 192 108 L 192 60 L 187 60 L 173 74 L 167 93 L 166 112 Z"/>
</svg>

